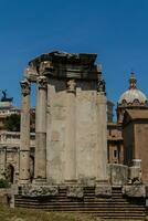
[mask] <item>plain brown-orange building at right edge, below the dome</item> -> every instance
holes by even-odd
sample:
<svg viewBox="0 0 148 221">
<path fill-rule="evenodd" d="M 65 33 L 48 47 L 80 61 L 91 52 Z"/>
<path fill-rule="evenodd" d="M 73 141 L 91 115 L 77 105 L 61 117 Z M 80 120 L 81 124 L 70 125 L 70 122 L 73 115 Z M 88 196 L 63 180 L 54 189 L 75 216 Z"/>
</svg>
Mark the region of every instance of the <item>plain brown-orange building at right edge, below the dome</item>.
<svg viewBox="0 0 148 221">
<path fill-rule="evenodd" d="M 141 180 L 148 183 L 148 109 L 127 109 L 124 115 L 124 164 L 141 168 Z"/>
</svg>

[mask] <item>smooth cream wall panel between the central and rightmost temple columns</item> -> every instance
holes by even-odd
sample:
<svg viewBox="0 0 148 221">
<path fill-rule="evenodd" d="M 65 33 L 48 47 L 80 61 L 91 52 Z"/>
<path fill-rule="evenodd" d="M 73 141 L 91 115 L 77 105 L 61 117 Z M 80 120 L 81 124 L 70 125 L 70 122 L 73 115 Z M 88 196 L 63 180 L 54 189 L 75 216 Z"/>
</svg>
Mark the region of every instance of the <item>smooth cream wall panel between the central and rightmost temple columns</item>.
<svg viewBox="0 0 148 221">
<path fill-rule="evenodd" d="M 78 182 L 96 178 L 97 92 L 95 82 L 78 81 L 76 86 L 76 178 Z"/>
</svg>

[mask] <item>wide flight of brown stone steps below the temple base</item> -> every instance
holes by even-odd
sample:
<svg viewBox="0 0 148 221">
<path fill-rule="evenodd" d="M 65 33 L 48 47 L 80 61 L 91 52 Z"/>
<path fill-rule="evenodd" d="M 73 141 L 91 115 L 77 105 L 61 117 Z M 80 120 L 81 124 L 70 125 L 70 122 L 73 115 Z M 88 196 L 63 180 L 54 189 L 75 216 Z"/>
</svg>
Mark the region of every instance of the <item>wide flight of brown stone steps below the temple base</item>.
<svg viewBox="0 0 148 221">
<path fill-rule="evenodd" d="M 22 198 L 15 196 L 15 207 L 42 209 L 45 211 L 93 213 L 107 220 L 141 221 L 146 215 L 145 200 L 123 197 L 121 188 L 113 188 L 110 198 L 97 198 L 95 188 L 84 188 L 84 198 L 67 198 L 66 189 L 60 189 L 59 196 Z"/>
</svg>

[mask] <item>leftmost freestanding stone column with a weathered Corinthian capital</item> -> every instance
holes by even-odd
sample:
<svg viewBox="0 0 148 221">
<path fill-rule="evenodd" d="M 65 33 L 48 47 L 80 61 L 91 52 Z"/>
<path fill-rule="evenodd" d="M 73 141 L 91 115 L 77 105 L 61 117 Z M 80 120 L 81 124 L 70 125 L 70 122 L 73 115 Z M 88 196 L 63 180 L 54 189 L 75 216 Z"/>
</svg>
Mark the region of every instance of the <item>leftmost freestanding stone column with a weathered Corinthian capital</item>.
<svg viewBox="0 0 148 221">
<path fill-rule="evenodd" d="M 20 144 L 20 182 L 30 181 L 30 82 L 22 81 L 21 144 Z"/>
</svg>

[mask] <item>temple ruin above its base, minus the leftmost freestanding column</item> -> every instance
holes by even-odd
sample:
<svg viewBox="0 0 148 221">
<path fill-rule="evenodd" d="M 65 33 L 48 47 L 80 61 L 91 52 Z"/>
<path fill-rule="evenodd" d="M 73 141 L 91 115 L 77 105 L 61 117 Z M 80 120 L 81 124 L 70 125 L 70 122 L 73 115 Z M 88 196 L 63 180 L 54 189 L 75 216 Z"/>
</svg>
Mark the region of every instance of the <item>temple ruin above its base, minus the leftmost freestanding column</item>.
<svg viewBox="0 0 148 221">
<path fill-rule="evenodd" d="M 36 70 L 39 77 L 34 77 L 40 85 L 35 179 L 45 177 L 46 162 L 49 183 L 107 181 L 105 82 L 95 59 L 96 54 L 52 52 L 29 63 Z"/>
</svg>

